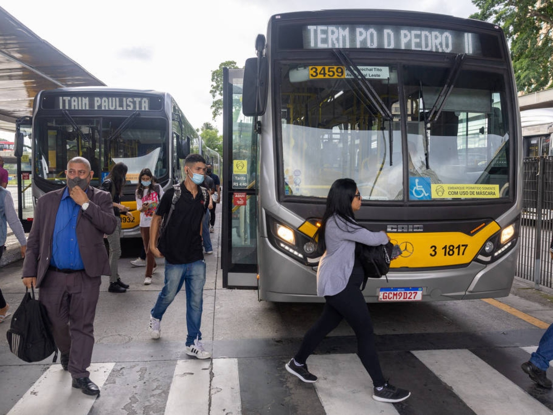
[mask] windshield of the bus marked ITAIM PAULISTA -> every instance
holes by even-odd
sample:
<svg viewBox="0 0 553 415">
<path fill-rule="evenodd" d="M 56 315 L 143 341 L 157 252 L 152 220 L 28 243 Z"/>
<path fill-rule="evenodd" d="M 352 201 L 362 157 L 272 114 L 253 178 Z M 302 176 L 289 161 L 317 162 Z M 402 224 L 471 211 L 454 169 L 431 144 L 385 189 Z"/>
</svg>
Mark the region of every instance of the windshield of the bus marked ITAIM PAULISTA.
<svg viewBox="0 0 553 415">
<path fill-rule="evenodd" d="M 35 174 L 65 184 L 67 161 L 90 161 L 92 185 L 99 185 L 114 163 L 128 167 L 127 184 L 137 184 L 147 167 L 158 180 L 168 175 L 167 120 L 152 117 L 41 117 L 34 134 Z"/>
</svg>

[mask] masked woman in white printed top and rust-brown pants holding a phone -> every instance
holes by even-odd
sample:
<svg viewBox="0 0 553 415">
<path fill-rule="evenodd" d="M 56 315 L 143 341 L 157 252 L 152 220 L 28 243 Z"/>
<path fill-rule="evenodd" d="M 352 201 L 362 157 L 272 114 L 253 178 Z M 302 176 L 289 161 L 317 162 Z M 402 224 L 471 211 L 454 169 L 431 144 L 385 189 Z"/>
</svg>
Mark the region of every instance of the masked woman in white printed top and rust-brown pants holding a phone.
<svg viewBox="0 0 553 415">
<path fill-rule="evenodd" d="M 140 212 L 140 235 L 144 243 L 146 251 L 146 275 L 144 285 L 152 283 L 152 274 L 155 271 L 154 254 L 150 252 L 150 222 L 154 216 L 155 210 L 158 208 L 163 189 L 155 183 L 155 177 L 152 170 L 145 168 L 140 171 L 139 181 L 136 191 L 137 210 Z"/>
</svg>

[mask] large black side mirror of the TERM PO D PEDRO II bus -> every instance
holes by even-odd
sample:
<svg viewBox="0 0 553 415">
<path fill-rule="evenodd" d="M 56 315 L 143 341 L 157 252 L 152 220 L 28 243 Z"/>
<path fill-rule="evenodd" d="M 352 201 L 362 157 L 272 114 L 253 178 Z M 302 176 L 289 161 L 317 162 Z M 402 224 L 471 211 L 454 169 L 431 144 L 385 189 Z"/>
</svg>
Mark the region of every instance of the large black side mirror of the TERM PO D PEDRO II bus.
<svg viewBox="0 0 553 415">
<path fill-rule="evenodd" d="M 245 116 L 257 117 L 265 113 L 268 77 L 269 63 L 266 56 L 246 59 L 242 86 L 242 112 Z"/>
</svg>

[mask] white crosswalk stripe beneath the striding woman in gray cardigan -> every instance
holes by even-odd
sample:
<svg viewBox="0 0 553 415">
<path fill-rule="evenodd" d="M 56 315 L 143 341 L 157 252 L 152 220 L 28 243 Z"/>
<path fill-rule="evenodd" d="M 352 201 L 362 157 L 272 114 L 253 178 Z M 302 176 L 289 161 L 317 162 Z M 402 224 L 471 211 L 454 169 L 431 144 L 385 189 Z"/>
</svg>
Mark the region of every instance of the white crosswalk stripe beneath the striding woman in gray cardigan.
<svg viewBox="0 0 553 415">
<path fill-rule="evenodd" d="M 356 354 L 311 355 L 309 371 L 327 415 L 374 413 L 397 415 L 390 403 L 373 400 L 373 382 Z"/>
</svg>

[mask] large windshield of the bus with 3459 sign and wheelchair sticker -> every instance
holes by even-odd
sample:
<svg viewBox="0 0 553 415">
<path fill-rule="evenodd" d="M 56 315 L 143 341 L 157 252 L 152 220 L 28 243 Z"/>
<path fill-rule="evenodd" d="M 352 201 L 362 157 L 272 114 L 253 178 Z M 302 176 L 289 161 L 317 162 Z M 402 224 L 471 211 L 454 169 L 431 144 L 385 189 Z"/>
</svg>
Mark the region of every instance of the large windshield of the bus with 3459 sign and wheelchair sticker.
<svg viewBox="0 0 553 415">
<path fill-rule="evenodd" d="M 364 200 L 508 197 L 506 75 L 374 59 L 279 69 L 284 195 L 326 198 L 349 177 Z"/>
</svg>

